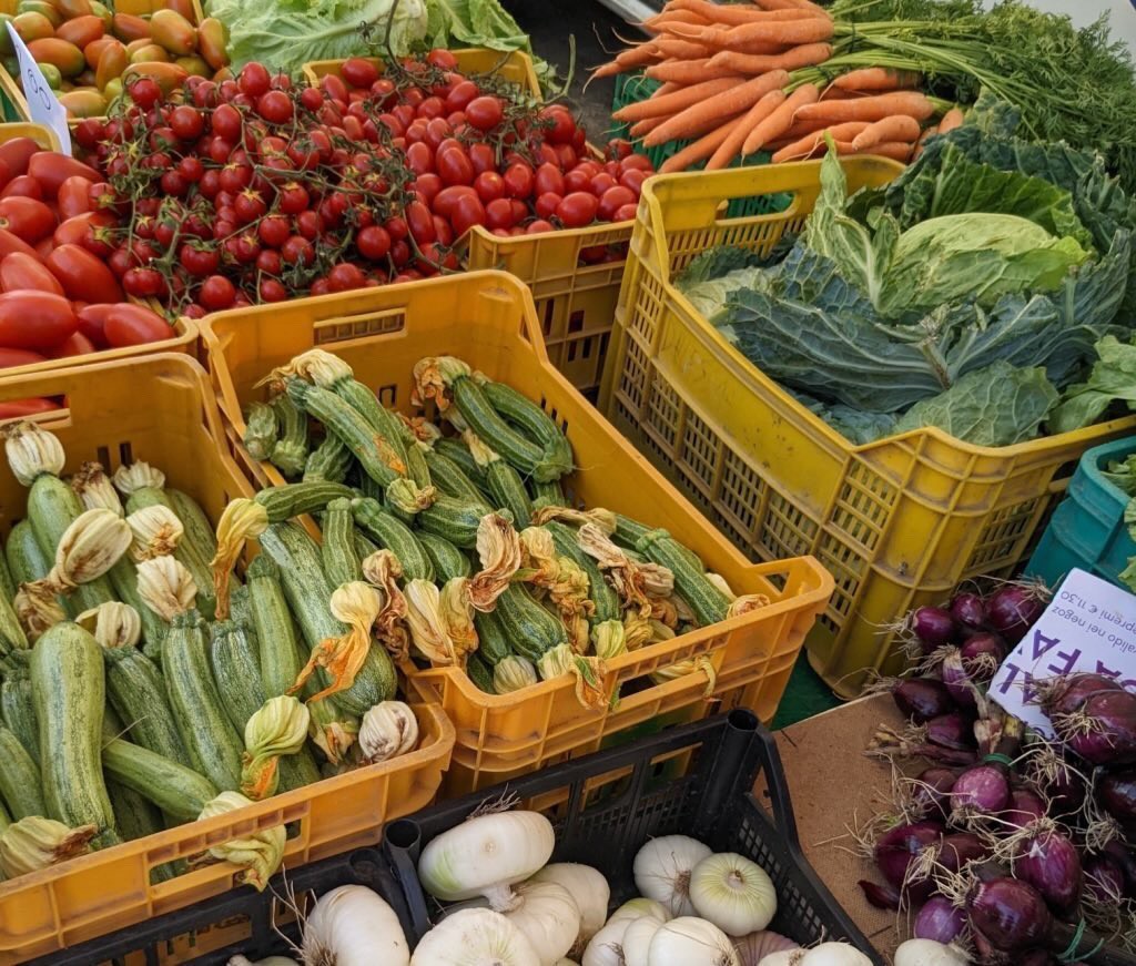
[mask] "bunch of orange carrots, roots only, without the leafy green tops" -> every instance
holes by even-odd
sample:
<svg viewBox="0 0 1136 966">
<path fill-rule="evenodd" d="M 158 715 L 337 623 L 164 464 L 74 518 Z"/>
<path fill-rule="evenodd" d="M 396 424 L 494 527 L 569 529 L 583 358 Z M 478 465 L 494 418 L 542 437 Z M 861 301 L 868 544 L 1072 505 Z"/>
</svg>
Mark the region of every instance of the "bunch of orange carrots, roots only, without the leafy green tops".
<svg viewBox="0 0 1136 966">
<path fill-rule="evenodd" d="M 905 162 L 932 134 L 962 123 L 961 110 L 918 90 L 917 72 L 842 72 L 836 26 L 811 0 L 669 0 L 643 26 L 651 39 L 593 76 L 642 70 L 660 82 L 615 114 L 646 148 L 690 141 L 660 171 L 701 161 L 716 170 L 759 151 L 799 161 L 824 153 L 828 137 L 841 154 Z"/>
</svg>

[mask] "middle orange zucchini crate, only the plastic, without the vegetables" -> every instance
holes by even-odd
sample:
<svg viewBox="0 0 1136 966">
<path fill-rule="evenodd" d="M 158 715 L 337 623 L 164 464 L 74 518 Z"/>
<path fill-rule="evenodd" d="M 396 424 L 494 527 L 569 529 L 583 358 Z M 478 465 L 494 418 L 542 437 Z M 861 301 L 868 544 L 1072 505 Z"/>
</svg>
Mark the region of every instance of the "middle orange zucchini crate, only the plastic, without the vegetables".
<svg viewBox="0 0 1136 966">
<path fill-rule="evenodd" d="M 460 356 L 540 401 L 565 428 L 584 468 L 565 480 L 575 504 L 621 510 L 663 526 L 738 593 L 763 593 L 771 602 L 608 662 L 608 688 L 705 656 L 718 672 L 713 696 L 721 706 L 747 706 L 767 721 L 772 716 L 804 635 L 828 598 L 829 576 L 809 557 L 745 561 L 550 364 L 532 296 L 516 278 L 469 272 L 222 312 L 202 325 L 228 439 L 260 485 L 282 480 L 243 452 L 243 406 L 265 398 L 256 384 L 272 368 L 312 346 L 341 355 L 384 404 L 407 414 L 412 412 L 412 368 L 425 355 Z M 709 707 L 701 669 L 628 690 L 618 708 L 603 711 L 582 708 L 569 677 L 487 695 L 453 667 L 402 670 L 419 694 L 441 703 L 457 728 L 448 791 L 531 772 L 593 751 L 605 737 L 662 715 L 691 720 Z"/>
</svg>

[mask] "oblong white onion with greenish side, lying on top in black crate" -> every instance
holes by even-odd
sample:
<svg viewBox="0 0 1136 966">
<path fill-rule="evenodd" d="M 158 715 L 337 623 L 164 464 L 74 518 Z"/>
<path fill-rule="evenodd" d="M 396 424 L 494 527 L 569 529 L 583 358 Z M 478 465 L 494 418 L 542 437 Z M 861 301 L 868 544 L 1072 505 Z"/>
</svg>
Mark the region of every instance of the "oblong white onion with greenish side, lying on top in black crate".
<svg viewBox="0 0 1136 966">
<path fill-rule="evenodd" d="M 517 905 L 510 887 L 542 868 L 554 846 L 552 824 L 538 812 L 478 815 L 427 842 L 418 877 L 438 899 L 484 896 L 506 912 Z"/>
</svg>

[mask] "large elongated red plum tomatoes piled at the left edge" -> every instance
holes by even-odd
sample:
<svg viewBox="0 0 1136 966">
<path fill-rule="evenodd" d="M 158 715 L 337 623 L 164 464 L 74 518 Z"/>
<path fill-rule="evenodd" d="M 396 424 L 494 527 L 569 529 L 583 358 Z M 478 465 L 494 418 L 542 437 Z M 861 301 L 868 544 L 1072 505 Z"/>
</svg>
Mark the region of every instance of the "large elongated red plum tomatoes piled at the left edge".
<svg viewBox="0 0 1136 966">
<path fill-rule="evenodd" d="M 160 316 L 125 303 L 115 274 L 87 245 L 100 220 L 92 200 L 100 180 L 30 137 L 0 144 L 0 368 L 172 335 Z"/>
</svg>

